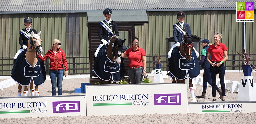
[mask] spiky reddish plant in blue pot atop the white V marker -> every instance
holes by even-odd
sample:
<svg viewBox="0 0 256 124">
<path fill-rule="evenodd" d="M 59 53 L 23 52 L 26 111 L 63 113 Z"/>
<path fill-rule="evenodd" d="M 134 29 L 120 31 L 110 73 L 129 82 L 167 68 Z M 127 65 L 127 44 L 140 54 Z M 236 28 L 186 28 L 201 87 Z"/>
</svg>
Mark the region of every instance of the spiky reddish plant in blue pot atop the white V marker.
<svg viewBox="0 0 256 124">
<path fill-rule="evenodd" d="M 237 52 L 240 56 L 240 61 L 239 61 L 239 64 L 241 64 L 239 66 L 239 72 L 240 72 L 240 69 L 242 68 L 243 69 L 243 75 L 244 76 L 251 76 L 252 75 L 252 70 L 254 69 L 256 71 L 256 68 L 255 66 L 251 63 L 254 57 L 254 52 L 251 53 L 251 54 L 247 54 L 246 51 L 244 50 L 243 48 L 243 51 L 240 49 L 241 53 L 242 54 L 239 54 L 239 52 Z"/>
</svg>

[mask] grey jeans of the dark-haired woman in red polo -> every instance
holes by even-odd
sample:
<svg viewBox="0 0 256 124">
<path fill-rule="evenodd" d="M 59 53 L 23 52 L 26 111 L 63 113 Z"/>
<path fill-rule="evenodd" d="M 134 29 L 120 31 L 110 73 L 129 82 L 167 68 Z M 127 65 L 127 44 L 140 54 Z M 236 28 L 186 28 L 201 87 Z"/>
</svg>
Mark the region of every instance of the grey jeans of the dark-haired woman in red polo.
<svg viewBox="0 0 256 124">
<path fill-rule="evenodd" d="M 129 68 L 129 77 L 130 77 L 130 81 L 131 83 L 142 83 L 142 79 L 143 79 L 143 67 L 140 68 Z"/>
</svg>

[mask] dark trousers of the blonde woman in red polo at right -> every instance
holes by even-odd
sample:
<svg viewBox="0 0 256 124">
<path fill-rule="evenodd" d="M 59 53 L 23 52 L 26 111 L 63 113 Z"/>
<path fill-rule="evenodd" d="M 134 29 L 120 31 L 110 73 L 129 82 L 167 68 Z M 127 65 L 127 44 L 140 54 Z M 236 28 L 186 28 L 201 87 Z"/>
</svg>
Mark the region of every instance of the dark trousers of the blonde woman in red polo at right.
<svg viewBox="0 0 256 124">
<path fill-rule="evenodd" d="M 222 96 L 226 96 L 226 89 L 225 89 L 225 83 L 224 83 L 224 77 L 225 77 L 225 65 L 224 63 L 221 64 L 221 68 L 218 69 L 216 66 L 210 68 L 211 70 L 211 80 L 212 80 L 212 85 L 216 85 L 216 76 L 217 72 L 219 70 L 219 77 L 220 77 L 220 82 L 221 82 L 221 91 L 222 91 Z M 216 96 L 216 87 L 211 87 L 212 90 L 212 96 Z"/>
</svg>

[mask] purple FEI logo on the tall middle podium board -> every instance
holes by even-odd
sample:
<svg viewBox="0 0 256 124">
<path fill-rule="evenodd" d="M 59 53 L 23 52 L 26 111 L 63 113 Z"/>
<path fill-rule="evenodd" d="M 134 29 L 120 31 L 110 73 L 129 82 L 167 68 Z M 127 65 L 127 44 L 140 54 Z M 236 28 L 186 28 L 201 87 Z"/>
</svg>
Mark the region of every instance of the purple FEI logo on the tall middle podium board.
<svg viewBox="0 0 256 124">
<path fill-rule="evenodd" d="M 154 94 L 155 105 L 181 105 L 181 94 Z"/>
</svg>

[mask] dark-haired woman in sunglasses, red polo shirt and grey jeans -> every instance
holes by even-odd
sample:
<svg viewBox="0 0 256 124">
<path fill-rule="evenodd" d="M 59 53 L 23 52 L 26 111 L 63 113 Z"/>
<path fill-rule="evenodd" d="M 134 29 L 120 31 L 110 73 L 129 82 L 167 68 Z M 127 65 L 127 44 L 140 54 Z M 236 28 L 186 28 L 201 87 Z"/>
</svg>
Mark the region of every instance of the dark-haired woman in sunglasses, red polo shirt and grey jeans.
<svg viewBox="0 0 256 124">
<path fill-rule="evenodd" d="M 132 39 L 133 47 L 122 53 L 121 57 L 128 56 L 129 59 L 129 77 L 131 83 L 142 83 L 143 76 L 146 74 L 146 52 L 139 46 L 139 39 Z"/>
</svg>

